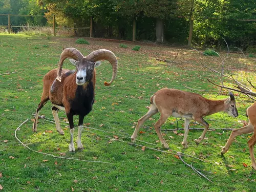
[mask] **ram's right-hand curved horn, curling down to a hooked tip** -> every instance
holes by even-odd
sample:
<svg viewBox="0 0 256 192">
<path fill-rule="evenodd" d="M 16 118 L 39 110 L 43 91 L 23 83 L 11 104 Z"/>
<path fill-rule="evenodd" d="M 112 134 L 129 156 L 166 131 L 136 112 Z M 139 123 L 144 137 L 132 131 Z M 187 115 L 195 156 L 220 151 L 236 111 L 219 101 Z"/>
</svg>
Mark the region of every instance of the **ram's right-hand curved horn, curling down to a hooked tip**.
<svg viewBox="0 0 256 192">
<path fill-rule="evenodd" d="M 99 49 L 99 50 L 96 50 L 96 51 L 90 53 L 86 57 L 86 59 L 89 61 L 92 61 L 92 62 L 96 62 L 98 60 L 105 59 L 111 63 L 112 70 L 113 70 L 112 78 L 111 78 L 110 82 L 106 82 L 106 81 L 104 82 L 104 86 L 110 86 L 117 75 L 117 58 L 116 58 L 115 54 L 112 51 L 109 51 L 106 49 Z"/>
</svg>

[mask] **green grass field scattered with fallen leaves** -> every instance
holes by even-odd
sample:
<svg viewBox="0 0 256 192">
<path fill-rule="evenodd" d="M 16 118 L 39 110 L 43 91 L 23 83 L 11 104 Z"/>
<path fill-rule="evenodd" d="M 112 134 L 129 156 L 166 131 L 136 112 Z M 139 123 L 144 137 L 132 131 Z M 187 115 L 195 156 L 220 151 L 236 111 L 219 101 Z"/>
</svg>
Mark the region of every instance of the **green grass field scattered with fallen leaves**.
<svg viewBox="0 0 256 192">
<path fill-rule="evenodd" d="M 220 70 L 219 63 L 189 49 L 142 44 L 139 51 L 132 51 L 135 46 L 132 43 L 127 43 L 128 48 L 124 49 L 119 47 L 119 42 L 87 39 L 90 45 L 76 45 L 75 40 L 0 34 L 0 74 L 16 72 L 0 75 L 2 191 L 255 191 L 256 172 L 251 167 L 247 147 L 251 134 L 238 137 L 229 152 L 221 156 L 221 146 L 225 145 L 230 131 L 208 131 L 206 138 L 196 146 L 194 139 L 201 135 L 202 130 L 191 130 L 188 134 L 189 148 L 183 150 L 183 131 L 165 131 L 177 127 L 176 119 L 171 117 L 162 126 L 162 133 L 170 146 L 169 152 L 179 151 L 204 160 L 183 157 L 185 162 L 193 164 L 214 183 L 199 177 L 173 154 L 149 148 L 143 151 L 141 146 L 129 144 L 137 120 L 147 112 L 151 95 L 161 88 L 200 93 L 212 99 L 226 98 L 227 92 L 215 98 L 219 90 L 206 78 L 219 84 L 221 78 L 201 65 L 203 62 Z M 42 78 L 57 67 L 58 56 L 64 47 L 75 47 L 84 55 L 97 49 L 109 49 L 116 54 L 119 65 L 117 78 L 110 87 L 103 86 L 103 82 L 111 78 L 110 63 L 104 61 L 97 68 L 96 102 L 93 111 L 84 118 L 84 125 L 105 132 L 84 128 L 84 150 L 75 153 L 69 152 L 69 127 L 63 112 L 59 112 L 59 117 L 63 121 L 64 136 L 58 135 L 54 123 L 44 119 L 39 119 L 37 133 L 32 132 L 33 114 L 42 92 Z M 176 53 L 176 63 L 155 59 L 173 60 Z M 230 54 L 226 65 L 233 70 L 239 68 L 239 78 L 242 79 L 241 75 L 247 67 L 255 67 L 255 62 L 249 58 L 239 59 L 240 56 Z M 64 68 L 73 69 L 68 59 Z M 242 95 L 236 96 L 239 117 L 232 118 L 225 114 L 225 123 L 223 113 L 208 116 L 205 120 L 210 128 L 238 128 L 246 123 L 245 110 L 251 103 Z M 40 115 L 53 119 L 50 102 Z M 153 124 L 158 118 L 159 114 L 144 123 L 137 137 L 141 141 L 136 144 L 167 152 L 154 130 Z M 29 121 L 20 127 L 17 137 L 32 150 L 111 164 L 59 159 L 24 148 L 15 139 L 14 132 L 26 119 Z M 77 123 L 78 118 L 75 117 Z M 183 121 L 178 123 L 182 128 Z M 193 126 L 202 127 L 191 123 L 190 127 Z"/>
</svg>

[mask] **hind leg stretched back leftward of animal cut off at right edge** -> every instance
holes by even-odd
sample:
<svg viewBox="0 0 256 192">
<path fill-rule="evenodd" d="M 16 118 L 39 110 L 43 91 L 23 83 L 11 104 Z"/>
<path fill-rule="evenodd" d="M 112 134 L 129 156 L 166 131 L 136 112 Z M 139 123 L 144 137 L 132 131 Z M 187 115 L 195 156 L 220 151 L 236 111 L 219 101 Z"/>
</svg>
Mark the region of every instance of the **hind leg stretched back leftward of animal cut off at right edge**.
<svg viewBox="0 0 256 192">
<path fill-rule="evenodd" d="M 253 128 L 253 126 L 250 122 L 249 122 L 248 125 L 243 126 L 239 129 L 233 129 L 232 133 L 230 134 L 230 136 L 227 140 L 226 145 L 224 146 L 224 148 L 221 151 L 221 154 L 225 154 L 228 151 L 228 149 L 229 149 L 231 143 L 233 142 L 234 138 L 236 138 L 237 136 L 242 135 L 242 134 L 251 133 L 253 131 L 254 131 L 254 128 Z"/>
</svg>

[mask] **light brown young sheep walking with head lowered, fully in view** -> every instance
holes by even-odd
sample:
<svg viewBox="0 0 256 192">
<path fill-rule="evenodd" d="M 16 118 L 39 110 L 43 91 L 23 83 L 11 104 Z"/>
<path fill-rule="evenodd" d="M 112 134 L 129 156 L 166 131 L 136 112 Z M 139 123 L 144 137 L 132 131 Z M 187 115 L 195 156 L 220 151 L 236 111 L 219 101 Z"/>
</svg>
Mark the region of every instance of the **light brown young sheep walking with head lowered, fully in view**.
<svg viewBox="0 0 256 192">
<path fill-rule="evenodd" d="M 168 148 L 169 146 L 162 136 L 160 127 L 170 116 L 185 118 L 185 133 L 182 141 L 184 148 L 188 147 L 186 140 L 190 120 L 195 120 L 203 124 L 205 127 L 204 131 L 202 135 L 195 140 L 196 144 L 199 144 L 204 139 L 209 128 L 209 124 L 203 119 L 205 116 L 221 111 L 228 113 L 232 117 L 238 116 L 236 100 L 234 99 L 232 93 L 229 93 L 229 95 L 230 97 L 228 99 L 210 100 L 195 93 L 184 92 L 176 89 L 161 89 L 151 97 L 150 110 L 148 110 L 148 112 L 138 120 L 131 139 L 133 142 L 135 142 L 140 126 L 145 120 L 159 112 L 160 118 L 155 123 L 154 127 L 161 143 L 165 148 Z"/>
</svg>

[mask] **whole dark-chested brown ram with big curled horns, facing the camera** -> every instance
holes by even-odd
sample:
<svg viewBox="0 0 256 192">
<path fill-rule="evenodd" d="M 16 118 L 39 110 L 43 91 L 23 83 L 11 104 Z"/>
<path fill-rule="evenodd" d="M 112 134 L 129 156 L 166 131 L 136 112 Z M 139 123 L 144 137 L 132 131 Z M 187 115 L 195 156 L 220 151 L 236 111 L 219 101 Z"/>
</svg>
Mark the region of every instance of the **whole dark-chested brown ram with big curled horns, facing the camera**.
<svg viewBox="0 0 256 192">
<path fill-rule="evenodd" d="M 63 61 L 70 57 L 70 61 L 76 66 L 76 70 L 62 70 Z M 67 48 L 63 50 L 59 60 L 58 69 L 53 69 L 48 72 L 44 77 L 44 87 L 38 108 L 36 110 L 36 117 L 33 123 L 32 131 L 37 131 L 37 121 L 39 111 L 46 104 L 48 100 L 54 105 L 52 107 L 52 114 L 56 124 L 56 130 L 59 134 L 63 135 L 61 130 L 58 110 L 66 111 L 67 118 L 70 125 L 70 145 L 69 151 L 74 152 L 74 120 L 73 116 L 78 115 L 78 137 L 77 148 L 82 149 L 81 131 L 84 116 L 88 115 L 94 103 L 95 96 L 95 83 L 96 83 L 96 70 L 95 67 L 100 65 L 98 60 L 109 60 L 113 75 L 111 81 L 104 82 L 105 86 L 109 86 L 117 75 L 117 59 L 114 53 L 109 50 L 97 50 L 84 57 L 77 49 Z"/>
</svg>

